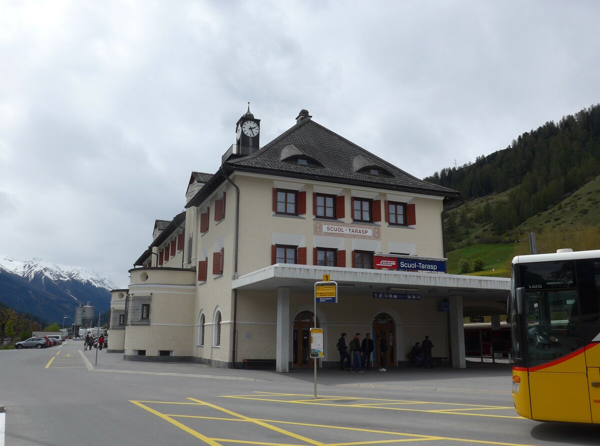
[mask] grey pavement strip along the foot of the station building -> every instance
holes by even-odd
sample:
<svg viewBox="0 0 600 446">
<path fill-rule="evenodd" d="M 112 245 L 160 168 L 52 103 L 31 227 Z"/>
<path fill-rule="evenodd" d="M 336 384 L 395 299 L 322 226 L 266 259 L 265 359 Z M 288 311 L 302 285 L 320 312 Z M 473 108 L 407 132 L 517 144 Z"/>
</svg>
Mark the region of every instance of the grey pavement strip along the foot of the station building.
<svg viewBox="0 0 600 446">
<path fill-rule="evenodd" d="M 100 373 L 139 373 L 191 378 L 233 379 L 239 381 L 313 382 L 312 367 L 296 367 L 289 373 L 275 370 L 224 369 L 187 362 L 125 361 L 121 353 L 82 352 L 89 361 L 88 369 Z M 337 368 L 317 369 L 319 385 L 428 389 L 440 391 L 511 394 L 511 366 L 509 364 L 467 362 L 466 369 L 436 367 L 389 367 L 387 372 L 377 369 L 352 373 Z"/>
</svg>

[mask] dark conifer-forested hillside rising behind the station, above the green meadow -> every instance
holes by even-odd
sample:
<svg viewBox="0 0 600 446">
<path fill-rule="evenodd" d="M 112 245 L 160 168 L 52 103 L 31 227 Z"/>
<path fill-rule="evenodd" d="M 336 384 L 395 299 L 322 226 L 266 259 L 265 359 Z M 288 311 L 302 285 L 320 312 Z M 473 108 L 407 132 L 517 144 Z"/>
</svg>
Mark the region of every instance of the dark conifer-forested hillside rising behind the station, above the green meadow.
<svg viewBox="0 0 600 446">
<path fill-rule="evenodd" d="M 466 205 L 446 218 L 448 241 L 458 243 L 469 235 L 469 228 L 479 226 L 479 231 L 487 232 L 487 240 L 479 243 L 485 243 L 500 241 L 599 174 L 600 104 L 596 104 L 523 133 L 506 149 L 478 157 L 475 163 L 442 169 L 425 180 L 463 194 Z"/>
</svg>

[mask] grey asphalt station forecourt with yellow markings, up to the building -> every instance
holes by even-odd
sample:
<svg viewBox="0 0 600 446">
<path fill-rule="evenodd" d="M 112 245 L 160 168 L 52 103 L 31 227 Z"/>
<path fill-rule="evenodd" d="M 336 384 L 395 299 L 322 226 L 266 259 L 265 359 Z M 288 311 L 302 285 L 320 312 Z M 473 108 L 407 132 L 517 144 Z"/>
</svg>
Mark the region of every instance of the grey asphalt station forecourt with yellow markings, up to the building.
<svg viewBox="0 0 600 446">
<path fill-rule="evenodd" d="M 106 351 L 95 361 L 96 351 L 73 340 L 0 351 L 6 446 L 592 445 L 600 438 L 597 426 L 518 417 L 506 364 L 319 370 L 314 399 L 311 369 L 123 361 Z"/>
</svg>

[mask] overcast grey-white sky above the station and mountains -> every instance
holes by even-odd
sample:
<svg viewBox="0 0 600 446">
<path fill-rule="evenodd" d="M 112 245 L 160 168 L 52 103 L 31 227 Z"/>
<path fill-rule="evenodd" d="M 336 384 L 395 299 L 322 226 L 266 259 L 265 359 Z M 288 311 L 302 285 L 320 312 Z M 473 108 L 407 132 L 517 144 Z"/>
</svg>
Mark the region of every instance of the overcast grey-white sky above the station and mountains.
<svg viewBox="0 0 600 446">
<path fill-rule="evenodd" d="M 127 288 L 157 218 L 307 109 L 423 178 L 600 102 L 596 1 L 2 1 L 0 253 Z"/>
</svg>

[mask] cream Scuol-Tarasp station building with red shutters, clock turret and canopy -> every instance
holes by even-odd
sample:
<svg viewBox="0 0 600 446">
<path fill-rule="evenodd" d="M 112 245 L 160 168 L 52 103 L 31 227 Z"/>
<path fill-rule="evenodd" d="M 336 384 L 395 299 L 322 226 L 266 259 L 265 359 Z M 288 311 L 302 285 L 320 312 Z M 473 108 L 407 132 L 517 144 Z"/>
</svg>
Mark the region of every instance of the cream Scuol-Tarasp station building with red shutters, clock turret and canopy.
<svg viewBox="0 0 600 446">
<path fill-rule="evenodd" d="M 192 172 L 183 212 L 156 220 L 152 243 L 112 291 L 109 351 L 125 360 L 220 367 L 339 364 L 341 333 L 382 334 L 387 366 L 429 336 L 464 367 L 463 317 L 505 313 L 509 279 L 446 274 L 442 211 L 457 191 L 415 178 L 301 110 L 260 146 L 260 119 L 236 123 L 214 174 Z M 328 274 L 337 303 L 319 303 Z M 378 365 L 379 352 L 373 354 Z"/>
</svg>

